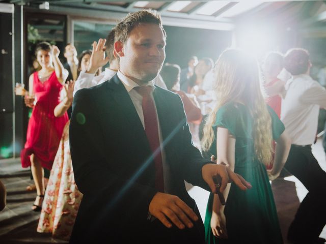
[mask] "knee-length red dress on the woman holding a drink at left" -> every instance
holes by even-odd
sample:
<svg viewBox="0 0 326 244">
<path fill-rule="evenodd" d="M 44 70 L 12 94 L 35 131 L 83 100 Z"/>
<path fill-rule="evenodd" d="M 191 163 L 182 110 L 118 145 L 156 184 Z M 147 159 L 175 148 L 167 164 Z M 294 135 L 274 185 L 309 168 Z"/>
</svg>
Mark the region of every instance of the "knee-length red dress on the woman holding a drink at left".
<svg viewBox="0 0 326 244">
<path fill-rule="evenodd" d="M 24 168 L 31 166 L 31 154 L 36 156 L 42 167 L 49 170 L 52 168 L 63 128 L 68 121 L 67 112 L 61 117 L 55 117 L 53 113 L 60 103 L 62 87 L 56 72 L 53 71 L 43 83 L 39 80 L 38 72 L 34 73 L 36 104 L 29 121 L 25 147 L 20 153 L 21 165 Z"/>
</svg>

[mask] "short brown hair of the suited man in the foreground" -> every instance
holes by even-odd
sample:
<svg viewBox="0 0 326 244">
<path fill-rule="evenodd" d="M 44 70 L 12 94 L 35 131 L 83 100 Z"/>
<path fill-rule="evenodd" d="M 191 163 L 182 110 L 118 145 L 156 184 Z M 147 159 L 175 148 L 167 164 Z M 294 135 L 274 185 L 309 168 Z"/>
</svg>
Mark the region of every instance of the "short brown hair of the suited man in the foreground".
<svg viewBox="0 0 326 244">
<path fill-rule="evenodd" d="M 164 33 L 164 37 L 166 37 L 160 14 L 155 10 L 146 9 L 135 13 L 129 13 L 117 24 L 115 42 L 126 42 L 132 29 L 143 23 L 159 25 Z"/>
</svg>

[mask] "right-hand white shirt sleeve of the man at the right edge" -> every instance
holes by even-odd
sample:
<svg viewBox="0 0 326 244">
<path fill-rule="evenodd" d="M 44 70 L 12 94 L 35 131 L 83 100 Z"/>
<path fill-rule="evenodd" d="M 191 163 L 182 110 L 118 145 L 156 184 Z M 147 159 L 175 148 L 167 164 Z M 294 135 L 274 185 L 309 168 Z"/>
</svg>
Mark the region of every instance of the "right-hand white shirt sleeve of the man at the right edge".
<svg viewBox="0 0 326 244">
<path fill-rule="evenodd" d="M 326 89 L 322 87 L 317 81 L 305 90 L 300 100 L 303 103 L 318 104 L 322 108 L 326 108 Z"/>
</svg>

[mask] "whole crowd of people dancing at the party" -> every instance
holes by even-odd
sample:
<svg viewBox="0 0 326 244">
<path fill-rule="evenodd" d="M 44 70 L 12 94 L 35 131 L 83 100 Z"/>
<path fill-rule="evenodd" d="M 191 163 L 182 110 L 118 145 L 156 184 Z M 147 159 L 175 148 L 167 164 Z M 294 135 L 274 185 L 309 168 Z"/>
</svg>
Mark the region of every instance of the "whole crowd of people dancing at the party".
<svg viewBox="0 0 326 244">
<path fill-rule="evenodd" d="M 283 243 L 269 180 L 285 167 L 309 191 L 287 238 L 323 243 L 326 173 L 311 144 L 326 90 L 309 76 L 309 52 L 258 64 L 227 49 L 215 65 L 191 56 L 181 70 L 164 64 L 165 46 L 149 10 L 79 58 L 68 44 L 65 65 L 58 47 L 37 45 L 21 151 L 37 231 L 70 243 Z M 210 192 L 205 223 L 184 180 Z"/>
</svg>

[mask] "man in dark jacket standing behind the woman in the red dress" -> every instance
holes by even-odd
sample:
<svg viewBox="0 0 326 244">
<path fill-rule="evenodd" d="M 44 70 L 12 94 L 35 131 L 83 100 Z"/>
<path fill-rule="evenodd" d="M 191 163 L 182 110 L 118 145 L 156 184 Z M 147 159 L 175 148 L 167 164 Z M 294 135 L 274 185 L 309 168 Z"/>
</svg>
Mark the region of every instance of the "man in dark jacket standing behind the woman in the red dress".
<svg viewBox="0 0 326 244">
<path fill-rule="evenodd" d="M 77 79 L 77 69 L 78 69 L 78 59 L 77 59 L 77 51 L 74 45 L 68 43 L 65 47 L 65 58 L 67 59 L 67 63 L 63 65 L 63 67 L 68 70 L 67 81 L 76 80 Z"/>
</svg>

